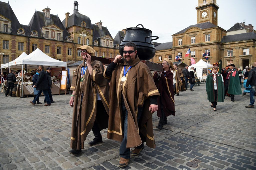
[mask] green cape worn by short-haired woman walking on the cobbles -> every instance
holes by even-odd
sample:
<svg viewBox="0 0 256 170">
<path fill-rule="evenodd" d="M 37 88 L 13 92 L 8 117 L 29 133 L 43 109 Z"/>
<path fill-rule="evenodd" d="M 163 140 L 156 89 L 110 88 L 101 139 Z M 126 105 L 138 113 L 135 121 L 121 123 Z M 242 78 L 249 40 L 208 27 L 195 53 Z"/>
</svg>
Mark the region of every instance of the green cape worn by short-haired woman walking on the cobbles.
<svg viewBox="0 0 256 170">
<path fill-rule="evenodd" d="M 214 83 L 213 83 L 213 74 L 208 74 L 206 78 L 206 92 L 207 99 L 209 102 L 224 102 L 224 84 L 222 82 L 221 74 L 216 74 L 216 83 L 217 83 L 217 101 L 215 101 L 214 93 Z"/>
</svg>

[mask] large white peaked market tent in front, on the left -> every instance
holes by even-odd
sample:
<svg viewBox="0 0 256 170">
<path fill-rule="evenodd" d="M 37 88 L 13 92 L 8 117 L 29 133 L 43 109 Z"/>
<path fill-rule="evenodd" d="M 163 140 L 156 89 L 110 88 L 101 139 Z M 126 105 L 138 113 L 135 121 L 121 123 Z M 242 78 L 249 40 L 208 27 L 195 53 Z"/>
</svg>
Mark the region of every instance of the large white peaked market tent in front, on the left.
<svg viewBox="0 0 256 170">
<path fill-rule="evenodd" d="M 24 53 L 22 53 L 22 55 Z M 26 64 L 28 68 L 35 68 L 35 67 L 38 67 L 38 65 L 67 68 L 67 62 L 63 62 L 63 61 L 59 61 L 54 58 L 51 58 L 50 56 L 46 55 L 44 52 L 39 50 L 39 48 L 37 48 L 35 51 L 33 51 L 27 56 L 25 56 L 26 53 L 23 56 L 22 55 L 20 55 L 18 58 L 16 58 L 12 62 L 9 62 L 8 67 L 17 68 L 22 66 L 22 72 L 23 72 L 24 64 Z M 2 66 L 3 65 L 1 65 L 1 68 L 6 68 Z M 23 74 L 22 74 L 22 96 L 23 96 Z"/>
</svg>

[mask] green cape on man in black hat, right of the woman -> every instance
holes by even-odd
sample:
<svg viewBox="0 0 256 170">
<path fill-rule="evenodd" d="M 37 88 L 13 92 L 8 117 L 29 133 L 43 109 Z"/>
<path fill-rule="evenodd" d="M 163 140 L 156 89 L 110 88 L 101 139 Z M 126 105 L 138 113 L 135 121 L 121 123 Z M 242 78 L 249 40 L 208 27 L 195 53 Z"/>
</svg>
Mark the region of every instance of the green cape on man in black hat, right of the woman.
<svg viewBox="0 0 256 170">
<path fill-rule="evenodd" d="M 227 72 L 229 72 L 229 70 L 230 69 L 228 69 Z M 236 70 L 236 69 L 233 69 L 233 70 Z M 242 94 L 241 84 L 240 84 L 237 70 L 236 70 L 236 76 L 232 76 L 232 72 L 231 72 L 231 74 L 229 76 L 229 80 L 227 80 L 227 81 L 229 81 L 228 82 L 228 94 L 234 94 L 234 95 Z"/>
</svg>

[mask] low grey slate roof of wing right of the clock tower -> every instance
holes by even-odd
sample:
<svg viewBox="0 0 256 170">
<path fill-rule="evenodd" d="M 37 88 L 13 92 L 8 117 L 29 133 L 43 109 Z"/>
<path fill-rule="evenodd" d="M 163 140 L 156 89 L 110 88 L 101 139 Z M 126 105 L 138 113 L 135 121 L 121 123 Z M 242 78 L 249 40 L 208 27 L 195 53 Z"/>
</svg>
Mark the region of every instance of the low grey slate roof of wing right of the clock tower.
<svg viewBox="0 0 256 170">
<path fill-rule="evenodd" d="M 234 42 L 234 41 L 243 41 L 243 40 L 256 40 L 256 33 L 247 32 L 242 34 L 235 35 L 226 35 L 222 38 L 222 43 Z"/>
</svg>

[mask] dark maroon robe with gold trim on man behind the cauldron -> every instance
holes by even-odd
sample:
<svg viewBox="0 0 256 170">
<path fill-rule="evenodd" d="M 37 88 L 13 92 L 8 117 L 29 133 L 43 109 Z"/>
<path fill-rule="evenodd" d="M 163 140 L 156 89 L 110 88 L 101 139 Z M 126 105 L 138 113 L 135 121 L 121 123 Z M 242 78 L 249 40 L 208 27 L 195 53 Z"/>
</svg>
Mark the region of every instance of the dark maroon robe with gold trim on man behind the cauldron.
<svg viewBox="0 0 256 170">
<path fill-rule="evenodd" d="M 173 91 L 173 73 L 168 70 L 162 72 L 161 77 L 155 72 L 153 75 L 154 82 L 160 93 L 157 98 L 158 110 L 157 117 L 161 117 L 161 104 L 164 106 L 165 116 L 173 115 L 175 116 L 175 106 L 174 106 L 174 91 Z"/>
</svg>

